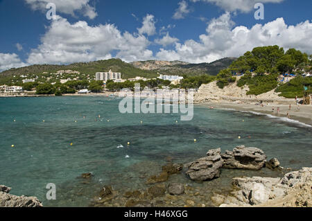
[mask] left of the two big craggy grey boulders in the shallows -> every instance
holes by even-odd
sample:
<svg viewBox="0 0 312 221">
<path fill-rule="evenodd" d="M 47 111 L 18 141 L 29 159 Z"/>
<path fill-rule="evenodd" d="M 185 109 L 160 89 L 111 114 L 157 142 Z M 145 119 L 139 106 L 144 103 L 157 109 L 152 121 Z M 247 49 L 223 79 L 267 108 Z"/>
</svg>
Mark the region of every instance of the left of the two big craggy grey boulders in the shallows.
<svg viewBox="0 0 312 221">
<path fill-rule="evenodd" d="M 209 150 L 207 157 L 185 164 L 185 167 L 188 168 L 186 174 L 195 181 L 207 181 L 219 177 L 220 168 L 223 165 L 220 152 L 220 148 Z"/>
</svg>

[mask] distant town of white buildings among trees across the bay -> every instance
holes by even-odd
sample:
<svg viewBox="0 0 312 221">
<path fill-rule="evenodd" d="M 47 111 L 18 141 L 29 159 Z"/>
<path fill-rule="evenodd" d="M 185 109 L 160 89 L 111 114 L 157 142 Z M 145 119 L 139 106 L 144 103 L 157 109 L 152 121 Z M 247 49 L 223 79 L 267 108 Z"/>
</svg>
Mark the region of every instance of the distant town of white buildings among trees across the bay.
<svg viewBox="0 0 312 221">
<path fill-rule="evenodd" d="M 135 78 L 123 79 L 122 73 L 113 72 L 111 69 L 107 72 L 96 72 L 95 78 L 92 78 L 90 75 L 84 75 L 79 71 L 72 70 L 60 70 L 55 73 L 43 72 L 42 75 L 21 75 L 13 76 L 12 84 L 16 83 L 17 85 L 0 85 L 0 94 L 15 95 L 15 94 L 54 94 L 49 90 L 48 85 L 55 85 L 60 88 L 62 94 L 87 94 L 90 92 L 100 93 L 107 91 L 107 83 L 124 83 L 124 82 L 148 82 L 150 80 L 158 80 L 161 82 L 166 82 L 166 85 L 179 85 L 182 76 L 169 76 L 159 74 L 157 78 L 143 78 L 137 76 Z M 92 85 L 93 83 L 93 85 Z M 38 91 L 38 85 L 46 84 L 46 89 Z M 96 84 L 96 89 L 92 89 L 92 86 Z M 23 86 L 20 86 L 23 85 Z M 73 86 L 74 85 L 74 86 Z M 91 87 L 90 87 L 91 85 Z M 159 82 L 158 84 L 159 85 Z M 73 86 L 73 87 L 72 87 Z M 66 88 L 65 88 L 66 87 Z M 74 90 L 69 89 L 74 88 Z M 145 87 L 150 88 L 150 87 Z M 40 88 L 39 88 L 40 89 Z M 39 92 L 39 93 L 38 93 Z M 57 91 L 54 91 L 57 92 Z M 55 94 L 56 95 L 56 94 Z"/>
</svg>

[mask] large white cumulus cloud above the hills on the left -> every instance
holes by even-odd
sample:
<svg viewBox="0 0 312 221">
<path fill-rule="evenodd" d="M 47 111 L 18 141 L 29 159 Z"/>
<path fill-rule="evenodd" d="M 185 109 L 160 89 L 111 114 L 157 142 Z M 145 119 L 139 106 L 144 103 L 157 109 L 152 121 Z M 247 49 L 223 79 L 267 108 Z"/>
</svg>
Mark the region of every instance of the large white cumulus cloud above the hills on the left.
<svg viewBox="0 0 312 221">
<path fill-rule="evenodd" d="M 116 57 L 125 61 L 148 60 L 153 52 L 144 35 L 121 33 L 114 24 L 89 26 L 86 21 L 70 24 L 58 17 L 51 22 L 41 39 L 41 44 L 31 50 L 30 64 L 64 64 L 88 62 Z"/>
</svg>

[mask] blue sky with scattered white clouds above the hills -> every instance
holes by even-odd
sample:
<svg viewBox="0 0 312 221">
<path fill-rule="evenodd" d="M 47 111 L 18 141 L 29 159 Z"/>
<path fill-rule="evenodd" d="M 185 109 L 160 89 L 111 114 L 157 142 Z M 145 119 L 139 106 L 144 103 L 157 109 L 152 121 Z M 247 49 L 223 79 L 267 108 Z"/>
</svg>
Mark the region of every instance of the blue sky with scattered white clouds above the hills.
<svg viewBox="0 0 312 221">
<path fill-rule="evenodd" d="M 57 19 L 46 19 L 49 2 Z M 254 19 L 257 2 L 263 20 Z M 311 6 L 311 0 L 0 0 L 0 71 L 107 58 L 212 62 L 270 44 L 312 53 Z"/>
</svg>

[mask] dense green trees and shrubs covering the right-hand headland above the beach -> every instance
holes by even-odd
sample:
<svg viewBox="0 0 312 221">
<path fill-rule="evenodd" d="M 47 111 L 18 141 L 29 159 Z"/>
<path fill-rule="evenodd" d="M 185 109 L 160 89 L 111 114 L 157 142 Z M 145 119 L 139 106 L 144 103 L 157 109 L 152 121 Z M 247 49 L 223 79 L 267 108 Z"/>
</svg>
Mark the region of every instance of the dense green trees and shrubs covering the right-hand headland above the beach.
<svg viewBox="0 0 312 221">
<path fill-rule="evenodd" d="M 311 55 L 310 55 L 311 58 Z M 303 86 L 311 85 L 311 78 L 303 78 L 302 73 L 311 71 L 311 60 L 306 53 L 290 48 L 284 51 L 279 46 L 263 46 L 246 52 L 234 61 L 227 69 L 218 73 L 217 85 L 221 89 L 236 81 L 238 87 L 247 85 L 247 94 L 259 95 L 276 89 L 281 96 L 294 98 L 302 96 Z M 278 81 L 279 75 L 293 74 L 286 84 Z"/>
</svg>

